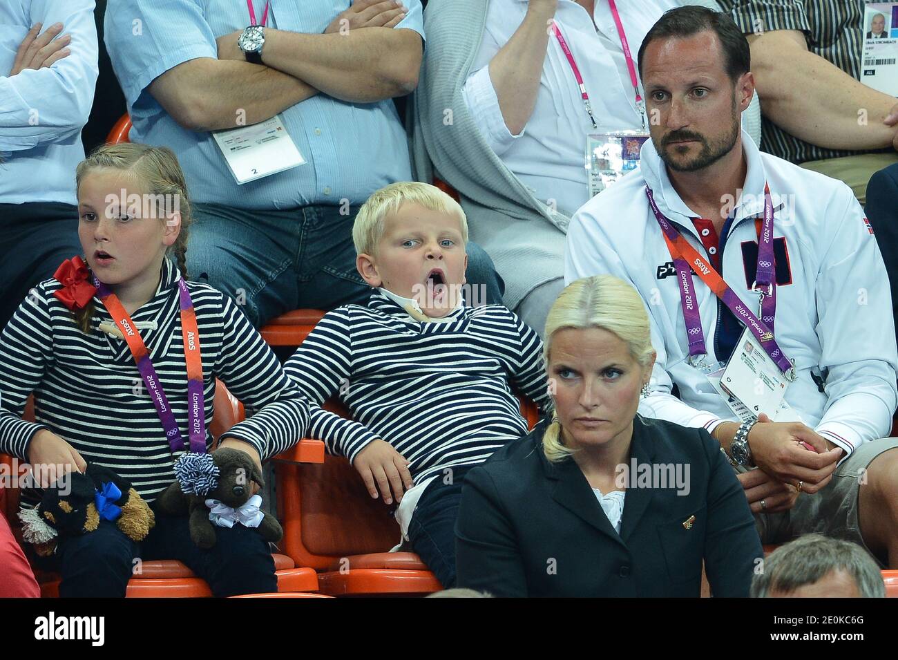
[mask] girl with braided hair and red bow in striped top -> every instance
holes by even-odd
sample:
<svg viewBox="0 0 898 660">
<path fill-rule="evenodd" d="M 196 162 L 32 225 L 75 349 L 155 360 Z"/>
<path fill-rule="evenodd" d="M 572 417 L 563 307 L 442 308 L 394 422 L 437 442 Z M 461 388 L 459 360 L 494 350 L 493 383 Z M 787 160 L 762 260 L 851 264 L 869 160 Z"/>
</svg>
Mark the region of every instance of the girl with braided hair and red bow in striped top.
<svg viewBox="0 0 898 660">
<path fill-rule="evenodd" d="M 258 463 L 295 444 L 308 405 L 277 357 L 231 298 L 186 281 L 189 197 L 172 151 L 101 146 L 78 166 L 76 187 L 86 264 L 68 260 L 32 289 L 0 337 L 0 452 L 39 474 L 99 463 L 152 503 L 175 479 L 184 439 L 192 451 L 211 448 L 216 378 L 255 413 L 219 447 Z M 35 422 L 22 419 L 32 392 Z M 22 492 L 23 506 L 38 498 Z M 216 527 L 215 547 L 200 550 L 187 521 L 157 514 L 139 548 L 107 520 L 63 537 L 59 594 L 124 596 L 137 559 L 179 559 L 219 596 L 277 591 L 255 530 Z"/>
</svg>

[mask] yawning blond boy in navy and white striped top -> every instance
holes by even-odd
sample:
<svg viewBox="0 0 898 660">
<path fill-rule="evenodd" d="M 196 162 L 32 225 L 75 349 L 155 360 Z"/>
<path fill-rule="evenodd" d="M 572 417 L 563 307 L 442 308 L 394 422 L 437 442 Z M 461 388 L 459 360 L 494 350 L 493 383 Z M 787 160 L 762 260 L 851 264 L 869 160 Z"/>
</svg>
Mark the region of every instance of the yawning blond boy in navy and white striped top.
<svg viewBox="0 0 898 660">
<path fill-rule="evenodd" d="M 515 390 L 550 403 L 542 342 L 497 304 L 469 306 L 462 207 L 427 183 L 393 183 L 353 226 L 367 305 L 325 314 L 286 363 L 313 405 L 310 434 L 348 458 L 371 497 L 399 503 L 404 541 L 445 587 L 464 474 L 527 433 Z M 467 296 L 466 296 L 467 294 Z"/>
</svg>

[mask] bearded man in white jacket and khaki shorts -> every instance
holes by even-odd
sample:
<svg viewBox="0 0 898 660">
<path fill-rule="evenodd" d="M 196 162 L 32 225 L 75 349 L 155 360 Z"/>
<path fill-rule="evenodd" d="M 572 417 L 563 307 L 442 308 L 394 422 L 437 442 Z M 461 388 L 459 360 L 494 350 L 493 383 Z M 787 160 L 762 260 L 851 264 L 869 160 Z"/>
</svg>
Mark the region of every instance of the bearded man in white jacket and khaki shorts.
<svg viewBox="0 0 898 660">
<path fill-rule="evenodd" d="M 652 139 L 640 169 L 577 211 L 566 281 L 610 273 L 643 296 L 657 360 L 639 410 L 719 441 L 762 541 L 823 532 L 898 568 L 898 440 L 881 439 L 898 405 L 898 350 L 863 210 L 845 184 L 762 154 L 741 132 L 754 81 L 728 17 L 668 12 L 638 61 Z M 762 270 L 770 286 L 757 285 Z M 733 310 L 754 325 L 754 348 Z M 779 365 L 785 389 L 785 405 L 757 418 L 712 383 L 752 350 Z"/>
</svg>

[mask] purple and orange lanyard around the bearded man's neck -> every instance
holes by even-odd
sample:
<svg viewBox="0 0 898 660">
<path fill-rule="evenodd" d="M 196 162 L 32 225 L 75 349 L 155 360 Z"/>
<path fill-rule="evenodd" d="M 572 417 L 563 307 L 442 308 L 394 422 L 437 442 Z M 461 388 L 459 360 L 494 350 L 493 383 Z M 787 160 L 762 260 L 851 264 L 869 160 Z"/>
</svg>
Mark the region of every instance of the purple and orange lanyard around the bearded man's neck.
<svg viewBox="0 0 898 660">
<path fill-rule="evenodd" d="M 695 364 L 697 358 L 707 356 L 708 350 L 705 348 L 704 331 L 701 328 L 701 317 L 699 314 L 698 300 L 694 294 L 692 287 L 693 279 L 691 266 L 695 267 L 696 274 L 704 282 L 720 300 L 735 314 L 735 317 L 743 321 L 745 326 L 752 332 L 756 339 L 761 343 L 764 351 L 779 366 L 780 371 L 786 375 L 788 380 L 795 380 L 795 367 L 789 361 L 782 350 L 780 350 L 776 339 L 773 337 L 773 329 L 766 321 L 762 321 L 754 313 L 748 309 L 731 289 L 723 277 L 720 277 L 708 260 L 704 259 L 698 251 L 691 246 L 682 234 L 679 233 L 674 225 L 661 213 L 655 203 L 655 197 L 652 190 L 646 186 L 646 196 L 648 204 L 655 214 L 655 219 L 664 233 L 667 248 L 674 257 L 674 266 L 677 271 L 677 283 L 680 286 L 680 300 L 682 302 L 683 321 L 686 323 L 686 336 L 689 341 L 689 358 L 690 364 Z M 766 231 L 766 233 L 765 233 Z M 687 260 L 688 258 L 688 260 Z M 691 261 L 691 263 L 690 263 Z M 761 266 L 761 262 L 767 263 Z M 773 275 L 773 204 L 770 201 L 770 189 L 764 186 L 764 219 L 762 223 L 762 238 L 758 241 L 758 276 L 755 284 L 762 284 L 766 278 L 766 285 L 769 292 L 763 294 L 759 289 L 753 286 L 753 290 L 758 291 L 762 295 L 762 316 L 765 312 L 770 313 L 772 320 L 776 312 L 776 284 L 772 279 Z M 765 308 L 765 302 L 770 301 Z"/>
</svg>

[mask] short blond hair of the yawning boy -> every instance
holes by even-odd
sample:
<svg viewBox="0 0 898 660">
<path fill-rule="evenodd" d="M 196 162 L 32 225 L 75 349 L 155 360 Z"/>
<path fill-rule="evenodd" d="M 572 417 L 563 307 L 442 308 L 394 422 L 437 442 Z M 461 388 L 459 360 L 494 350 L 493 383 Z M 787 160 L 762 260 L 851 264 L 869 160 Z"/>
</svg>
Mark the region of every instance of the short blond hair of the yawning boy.
<svg viewBox="0 0 898 660">
<path fill-rule="evenodd" d="M 352 225 L 352 242 L 356 245 L 357 254 L 374 254 L 374 248 L 383 238 L 386 217 L 397 213 L 406 203 L 420 204 L 447 216 L 458 216 L 462 224 L 462 239 L 468 242 L 468 220 L 458 202 L 429 183 L 400 181 L 375 190 L 358 209 L 356 222 Z"/>
</svg>

